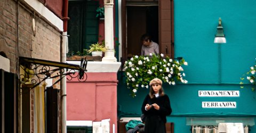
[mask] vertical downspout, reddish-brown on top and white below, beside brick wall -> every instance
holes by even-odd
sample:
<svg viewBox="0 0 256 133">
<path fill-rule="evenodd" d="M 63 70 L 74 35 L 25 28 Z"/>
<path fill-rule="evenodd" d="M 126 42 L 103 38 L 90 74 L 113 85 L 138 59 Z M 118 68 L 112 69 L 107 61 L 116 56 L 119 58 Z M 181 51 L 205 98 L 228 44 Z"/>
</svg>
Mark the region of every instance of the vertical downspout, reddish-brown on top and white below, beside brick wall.
<svg viewBox="0 0 256 133">
<path fill-rule="evenodd" d="M 63 32 L 62 32 L 62 43 L 61 43 L 61 62 L 66 63 L 67 53 L 67 27 L 68 27 L 68 0 L 63 2 Z M 64 70 L 66 73 L 66 69 Z M 61 102 L 61 132 L 67 132 L 67 93 L 66 93 L 66 77 L 61 79 L 61 91 L 60 91 L 60 102 Z"/>
</svg>

